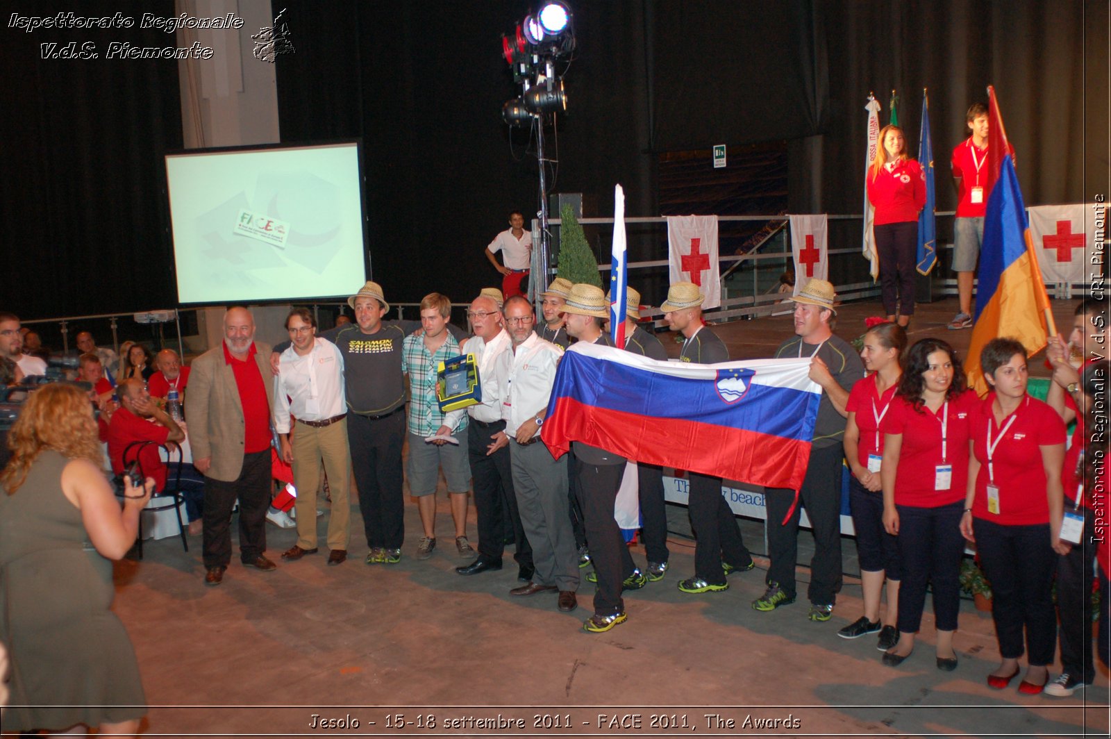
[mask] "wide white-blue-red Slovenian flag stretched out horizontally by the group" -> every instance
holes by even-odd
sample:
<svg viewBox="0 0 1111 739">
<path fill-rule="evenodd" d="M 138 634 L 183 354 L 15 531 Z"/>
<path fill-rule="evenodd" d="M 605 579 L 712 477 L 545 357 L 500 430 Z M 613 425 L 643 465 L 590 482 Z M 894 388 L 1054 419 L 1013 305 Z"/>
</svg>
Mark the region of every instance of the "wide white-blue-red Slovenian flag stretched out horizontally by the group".
<svg viewBox="0 0 1111 739">
<path fill-rule="evenodd" d="M 560 361 L 541 438 L 557 459 L 581 441 L 640 462 L 798 490 L 821 400 L 809 371 L 805 358 L 693 364 L 578 346 Z"/>
</svg>

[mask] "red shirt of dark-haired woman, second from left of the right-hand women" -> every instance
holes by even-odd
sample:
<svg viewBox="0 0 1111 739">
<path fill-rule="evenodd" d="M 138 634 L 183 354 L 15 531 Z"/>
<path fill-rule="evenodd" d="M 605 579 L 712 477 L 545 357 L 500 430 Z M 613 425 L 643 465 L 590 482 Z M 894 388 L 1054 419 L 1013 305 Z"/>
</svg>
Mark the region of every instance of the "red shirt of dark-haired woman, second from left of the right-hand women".
<svg viewBox="0 0 1111 739">
<path fill-rule="evenodd" d="M 922 406 L 921 412 L 900 397 L 891 401 L 880 423 L 884 433 L 901 433 L 899 467 L 895 470 L 895 503 L 918 508 L 938 508 L 964 500 L 969 478 L 969 422 L 980 399 L 971 390 L 942 403 L 937 413 Z M 942 420 L 945 422 L 942 456 Z M 952 478 L 948 490 L 934 490 L 938 465 L 949 465 Z"/>
</svg>

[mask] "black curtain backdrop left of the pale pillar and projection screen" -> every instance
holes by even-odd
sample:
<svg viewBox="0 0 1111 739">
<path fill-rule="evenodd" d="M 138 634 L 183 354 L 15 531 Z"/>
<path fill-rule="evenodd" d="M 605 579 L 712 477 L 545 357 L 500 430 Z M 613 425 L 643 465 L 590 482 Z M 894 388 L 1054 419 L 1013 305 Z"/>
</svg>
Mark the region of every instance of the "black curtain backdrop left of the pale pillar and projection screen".
<svg viewBox="0 0 1111 739">
<path fill-rule="evenodd" d="M 9 28 L 12 13 L 132 17 L 129 29 Z M 162 154 L 181 148 L 178 62 L 107 59 L 111 41 L 174 46 L 140 29 L 157 2 L 4 2 L 0 9 L 0 309 L 21 318 L 132 311 L 176 302 L 163 236 Z M 98 59 L 41 59 L 42 43 L 96 44 Z M 90 49 L 91 50 L 91 49 Z"/>
</svg>

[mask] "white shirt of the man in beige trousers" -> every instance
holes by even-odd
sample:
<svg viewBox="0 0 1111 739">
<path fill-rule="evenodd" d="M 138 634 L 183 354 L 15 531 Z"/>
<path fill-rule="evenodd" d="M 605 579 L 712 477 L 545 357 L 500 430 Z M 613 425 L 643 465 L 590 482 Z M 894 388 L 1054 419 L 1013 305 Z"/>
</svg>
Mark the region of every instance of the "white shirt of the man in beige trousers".
<svg viewBox="0 0 1111 739">
<path fill-rule="evenodd" d="M 304 357 L 293 347 L 284 350 L 274 378 L 274 430 L 289 433 L 290 416 L 301 421 L 342 416 L 343 386 L 343 354 L 331 341 L 317 337 Z"/>
</svg>

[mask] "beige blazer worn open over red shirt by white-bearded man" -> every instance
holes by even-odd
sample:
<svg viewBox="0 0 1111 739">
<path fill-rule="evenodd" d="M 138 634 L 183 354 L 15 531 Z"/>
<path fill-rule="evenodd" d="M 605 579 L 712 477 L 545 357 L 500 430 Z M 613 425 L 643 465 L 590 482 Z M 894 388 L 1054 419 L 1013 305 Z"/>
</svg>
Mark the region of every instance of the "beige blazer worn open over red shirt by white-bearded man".
<svg viewBox="0 0 1111 739">
<path fill-rule="evenodd" d="M 254 342 L 254 361 L 262 375 L 267 407 L 272 411 L 274 378 L 270 344 Z M 193 360 L 186 399 L 186 421 L 193 459 L 212 458 L 206 477 L 233 482 L 243 469 L 243 403 L 236 375 L 223 360 L 223 341 Z"/>
</svg>

